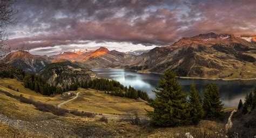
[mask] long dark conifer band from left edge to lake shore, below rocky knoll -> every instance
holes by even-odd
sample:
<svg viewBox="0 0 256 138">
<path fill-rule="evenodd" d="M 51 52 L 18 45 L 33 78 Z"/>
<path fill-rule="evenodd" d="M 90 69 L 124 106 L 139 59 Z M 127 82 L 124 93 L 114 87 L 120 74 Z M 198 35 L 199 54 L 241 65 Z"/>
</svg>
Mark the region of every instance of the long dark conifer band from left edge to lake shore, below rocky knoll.
<svg viewBox="0 0 256 138">
<path fill-rule="evenodd" d="M 11 71 L 6 71 L 11 70 Z M 73 83 L 66 88 L 60 88 L 58 86 L 50 86 L 43 77 L 35 74 L 25 74 L 22 69 L 16 69 L 11 66 L 4 65 L 0 67 L 0 77 L 4 78 L 17 78 L 18 81 L 23 81 L 25 88 L 41 93 L 42 95 L 58 95 L 66 91 L 76 91 L 79 87 L 91 88 L 100 91 L 106 91 L 107 94 L 112 96 L 126 97 L 132 99 L 150 100 L 146 92 L 136 90 L 129 86 L 120 84 L 118 81 L 109 80 L 104 78 L 96 78 L 90 81 L 82 83 Z"/>
</svg>

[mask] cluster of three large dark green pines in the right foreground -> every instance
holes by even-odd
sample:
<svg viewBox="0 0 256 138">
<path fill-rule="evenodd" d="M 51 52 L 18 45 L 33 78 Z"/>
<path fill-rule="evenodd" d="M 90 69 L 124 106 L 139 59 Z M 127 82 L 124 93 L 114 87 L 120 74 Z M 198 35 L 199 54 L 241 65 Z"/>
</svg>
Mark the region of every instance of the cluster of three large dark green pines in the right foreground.
<svg viewBox="0 0 256 138">
<path fill-rule="evenodd" d="M 197 125 L 201 119 L 220 119 L 223 116 L 223 104 L 215 84 L 208 84 L 203 99 L 194 84 L 188 95 L 183 92 L 176 74 L 169 70 L 159 81 L 159 88 L 153 91 L 156 99 L 149 101 L 153 111 L 147 111 L 153 126 L 174 127 Z"/>
</svg>

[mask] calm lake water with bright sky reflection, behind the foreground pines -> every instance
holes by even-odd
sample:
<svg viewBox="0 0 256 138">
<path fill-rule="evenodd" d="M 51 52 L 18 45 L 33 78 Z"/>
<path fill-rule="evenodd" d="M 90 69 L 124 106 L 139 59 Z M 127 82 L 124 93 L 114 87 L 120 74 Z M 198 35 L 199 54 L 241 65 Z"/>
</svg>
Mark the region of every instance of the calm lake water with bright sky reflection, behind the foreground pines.
<svg viewBox="0 0 256 138">
<path fill-rule="evenodd" d="M 156 96 L 152 92 L 157 87 L 158 80 L 161 75 L 158 74 L 140 74 L 134 71 L 127 71 L 123 69 L 93 69 L 93 72 L 98 77 L 116 79 L 125 86 L 131 85 L 137 90 L 143 90 L 149 94 L 150 98 Z M 183 90 L 188 92 L 192 82 L 196 85 L 200 96 L 203 95 L 206 85 L 209 83 L 217 84 L 221 100 L 225 107 L 234 107 L 238 105 L 239 99 L 244 99 L 246 93 L 253 91 L 256 86 L 256 80 L 250 81 L 221 81 L 209 79 L 178 79 L 179 83 L 183 86 Z"/>
</svg>

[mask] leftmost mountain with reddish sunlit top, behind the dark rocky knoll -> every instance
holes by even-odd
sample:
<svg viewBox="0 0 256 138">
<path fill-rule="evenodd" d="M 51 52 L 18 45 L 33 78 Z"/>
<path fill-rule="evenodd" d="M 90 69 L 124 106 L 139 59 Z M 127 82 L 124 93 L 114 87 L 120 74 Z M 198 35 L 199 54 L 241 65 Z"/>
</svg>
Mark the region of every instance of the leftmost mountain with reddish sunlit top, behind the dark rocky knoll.
<svg viewBox="0 0 256 138">
<path fill-rule="evenodd" d="M 25 72 L 38 74 L 51 63 L 52 58 L 48 56 L 32 55 L 29 52 L 18 50 L 6 55 L 3 63 L 16 68 L 21 68 Z"/>
</svg>

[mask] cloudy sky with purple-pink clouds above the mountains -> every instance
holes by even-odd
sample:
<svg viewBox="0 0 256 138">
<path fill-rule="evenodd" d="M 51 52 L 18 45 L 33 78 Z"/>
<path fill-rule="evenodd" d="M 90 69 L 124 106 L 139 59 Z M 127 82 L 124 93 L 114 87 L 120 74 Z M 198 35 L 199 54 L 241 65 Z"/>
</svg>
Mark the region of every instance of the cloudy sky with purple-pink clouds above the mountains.
<svg viewBox="0 0 256 138">
<path fill-rule="evenodd" d="M 35 54 L 167 46 L 200 33 L 255 35 L 255 0 L 17 0 L 9 45 Z"/>
</svg>

